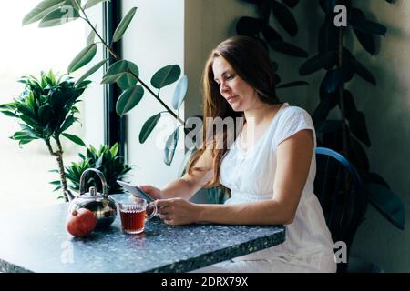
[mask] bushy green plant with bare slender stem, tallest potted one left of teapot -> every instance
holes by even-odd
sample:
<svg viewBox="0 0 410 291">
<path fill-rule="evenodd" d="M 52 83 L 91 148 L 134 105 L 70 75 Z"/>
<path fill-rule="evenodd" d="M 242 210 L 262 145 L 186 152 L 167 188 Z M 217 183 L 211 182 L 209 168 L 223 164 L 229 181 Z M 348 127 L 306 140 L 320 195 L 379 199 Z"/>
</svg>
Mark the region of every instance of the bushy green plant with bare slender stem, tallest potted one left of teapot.
<svg viewBox="0 0 410 291">
<path fill-rule="evenodd" d="M 63 135 L 74 143 L 85 146 L 78 136 L 67 134 L 66 131 L 78 120 L 75 105 L 90 82 L 75 83 L 69 76 L 56 78 L 52 71 L 48 74 L 42 72 L 39 79 L 32 75 L 23 76 L 19 82 L 26 85 L 23 93 L 14 102 L 0 105 L 3 114 L 20 121 L 21 130 L 11 138 L 17 140 L 20 146 L 36 139 L 42 139 L 46 143 L 50 155 L 56 156 L 59 183 L 68 201 L 64 152 L 60 138 Z M 55 142 L 56 149 L 53 148 L 52 141 Z"/>
</svg>

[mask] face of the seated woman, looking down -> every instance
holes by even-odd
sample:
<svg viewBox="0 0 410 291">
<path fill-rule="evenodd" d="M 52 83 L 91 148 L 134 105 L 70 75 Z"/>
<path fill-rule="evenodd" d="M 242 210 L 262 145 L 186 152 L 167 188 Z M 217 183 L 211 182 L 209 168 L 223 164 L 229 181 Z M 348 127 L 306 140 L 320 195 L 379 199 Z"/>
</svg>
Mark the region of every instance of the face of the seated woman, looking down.
<svg viewBox="0 0 410 291">
<path fill-rule="evenodd" d="M 247 111 L 260 103 L 253 87 L 241 79 L 223 57 L 213 60 L 212 71 L 214 80 L 220 87 L 220 95 L 234 111 Z"/>
</svg>

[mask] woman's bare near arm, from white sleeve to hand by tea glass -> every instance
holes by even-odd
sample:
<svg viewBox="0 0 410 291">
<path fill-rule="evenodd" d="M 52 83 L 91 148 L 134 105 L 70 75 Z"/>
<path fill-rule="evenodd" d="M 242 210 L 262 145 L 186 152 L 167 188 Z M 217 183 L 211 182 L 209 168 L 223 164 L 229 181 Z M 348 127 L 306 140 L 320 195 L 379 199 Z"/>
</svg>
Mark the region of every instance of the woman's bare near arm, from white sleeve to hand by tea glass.
<svg viewBox="0 0 410 291">
<path fill-rule="evenodd" d="M 277 148 L 271 200 L 238 205 L 195 205 L 174 198 L 159 200 L 160 217 L 170 225 L 209 222 L 229 225 L 290 224 L 306 184 L 313 155 L 313 132 L 302 130 Z"/>
</svg>

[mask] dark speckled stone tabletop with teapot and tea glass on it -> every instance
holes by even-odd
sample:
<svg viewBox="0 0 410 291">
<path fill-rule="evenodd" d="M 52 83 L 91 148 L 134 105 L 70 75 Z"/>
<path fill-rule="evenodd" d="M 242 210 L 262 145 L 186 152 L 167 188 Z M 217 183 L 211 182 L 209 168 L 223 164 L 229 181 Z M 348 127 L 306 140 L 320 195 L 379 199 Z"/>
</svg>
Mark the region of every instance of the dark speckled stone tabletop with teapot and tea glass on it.
<svg viewBox="0 0 410 291">
<path fill-rule="evenodd" d="M 283 226 L 167 226 L 122 232 L 119 216 L 84 238 L 67 233 L 68 204 L 0 215 L 0 272 L 188 272 L 281 244 Z"/>
</svg>

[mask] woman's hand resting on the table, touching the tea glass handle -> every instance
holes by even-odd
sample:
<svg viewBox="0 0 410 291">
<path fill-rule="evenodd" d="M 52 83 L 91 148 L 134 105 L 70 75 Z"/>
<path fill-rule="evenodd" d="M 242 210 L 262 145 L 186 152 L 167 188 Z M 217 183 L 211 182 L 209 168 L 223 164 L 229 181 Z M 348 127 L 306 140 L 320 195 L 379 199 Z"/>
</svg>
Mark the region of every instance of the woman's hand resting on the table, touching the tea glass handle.
<svg viewBox="0 0 410 291">
<path fill-rule="evenodd" d="M 181 226 L 199 222 L 202 206 L 182 198 L 157 200 L 159 217 L 167 225 Z"/>
</svg>

